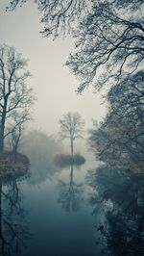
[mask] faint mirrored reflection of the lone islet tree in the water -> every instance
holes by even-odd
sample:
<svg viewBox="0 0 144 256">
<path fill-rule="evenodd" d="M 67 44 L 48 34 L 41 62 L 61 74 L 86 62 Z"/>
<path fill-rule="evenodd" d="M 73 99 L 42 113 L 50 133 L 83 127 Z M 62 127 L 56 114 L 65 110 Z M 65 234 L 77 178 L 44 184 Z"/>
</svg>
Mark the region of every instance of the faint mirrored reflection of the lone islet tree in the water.
<svg viewBox="0 0 144 256">
<path fill-rule="evenodd" d="M 74 182 L 74 166 L 70 166 L 70 180 L 68 183 L 59 180 L 59 199 L 58 202 L 66 212 L 77 212 L 80 209 L 83 198 L 83 184 Z"/>
</svg>

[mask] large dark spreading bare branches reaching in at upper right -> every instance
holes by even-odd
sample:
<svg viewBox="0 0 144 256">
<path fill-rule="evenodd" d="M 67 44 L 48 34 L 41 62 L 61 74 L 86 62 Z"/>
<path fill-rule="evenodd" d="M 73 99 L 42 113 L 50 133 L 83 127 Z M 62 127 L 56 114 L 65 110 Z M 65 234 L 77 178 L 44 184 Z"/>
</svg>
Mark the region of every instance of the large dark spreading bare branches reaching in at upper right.
<svg viewBox="0 0 144 256">
<path fill-rule="evenodd" d="M 127 3 L 122 10 L 123 4 L 109 2 L 94 1 L 76 33 L 76 53 L 67 64 L 81 79 L 79 92 L 90 84 L 95 89 L 115 85 L 121 77 L 143 68 L 144 5 L 137 2 L 138 10 L 133 10 L 135 5 Z"/>
</svg>

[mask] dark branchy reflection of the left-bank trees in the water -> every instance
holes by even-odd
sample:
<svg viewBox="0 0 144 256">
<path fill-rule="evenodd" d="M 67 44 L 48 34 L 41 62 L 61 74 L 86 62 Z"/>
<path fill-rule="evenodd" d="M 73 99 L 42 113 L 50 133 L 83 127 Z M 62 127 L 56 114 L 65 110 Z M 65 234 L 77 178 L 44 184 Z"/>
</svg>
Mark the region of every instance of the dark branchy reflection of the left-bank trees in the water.
<svg viewBox="0 0 144 256">
<path fill-rule="evenodd" d="M 24 176 L 23 176 L 24 178 Z M 18 182 L 23 178 L 0 179 L 0 255 L 20 255 L 30 238 L 24 225 L 26 211 L 22 208 L 22 195 Z"/>
</svg>

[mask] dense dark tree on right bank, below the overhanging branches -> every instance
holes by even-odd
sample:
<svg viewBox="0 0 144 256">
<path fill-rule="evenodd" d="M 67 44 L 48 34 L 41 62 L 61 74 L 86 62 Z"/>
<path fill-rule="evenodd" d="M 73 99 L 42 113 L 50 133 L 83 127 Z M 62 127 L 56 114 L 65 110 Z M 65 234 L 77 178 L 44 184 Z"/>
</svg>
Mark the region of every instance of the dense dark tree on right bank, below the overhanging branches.
<svg viewBox="0 0 144 256">
<path fill-rule="evenodd" d="M 90 131 L 89 144 L 104 162 L 132 163 L 143 167 L 144 159 L 143 72 L 123 79 L 108 92 L 108 115 Z"/>
</svg>

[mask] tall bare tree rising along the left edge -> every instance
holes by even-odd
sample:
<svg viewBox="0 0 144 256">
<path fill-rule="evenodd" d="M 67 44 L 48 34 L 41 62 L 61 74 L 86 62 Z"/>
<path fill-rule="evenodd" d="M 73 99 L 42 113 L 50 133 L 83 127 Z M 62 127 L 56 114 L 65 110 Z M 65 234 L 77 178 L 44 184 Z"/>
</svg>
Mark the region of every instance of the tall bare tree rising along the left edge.
<svg viewBox="0 0 144 256">
<path fill-rule="evenodd" d="M 27 61 L 14 48 L 0 45 L 0 152 L 4 150 L 7 126 L 13 113 L 21 115 L 23 110 L 30 113 L 35 97 L 26 81 L 30 72 Z M 22 115 L 21 115 L 22 116 Z"/>
</svg>

